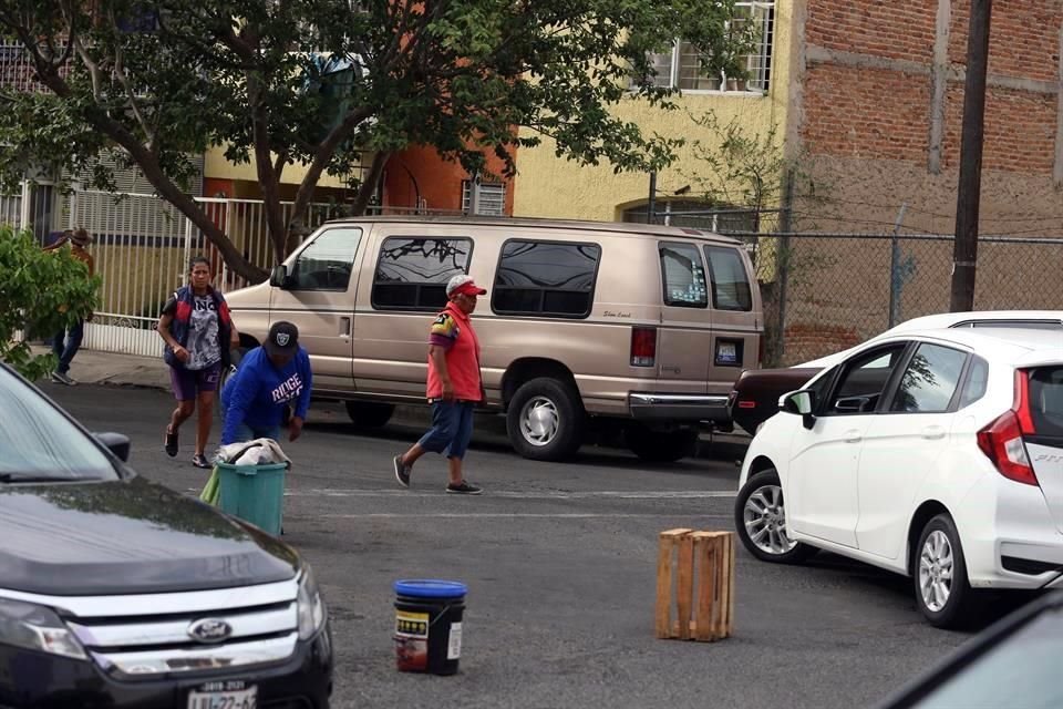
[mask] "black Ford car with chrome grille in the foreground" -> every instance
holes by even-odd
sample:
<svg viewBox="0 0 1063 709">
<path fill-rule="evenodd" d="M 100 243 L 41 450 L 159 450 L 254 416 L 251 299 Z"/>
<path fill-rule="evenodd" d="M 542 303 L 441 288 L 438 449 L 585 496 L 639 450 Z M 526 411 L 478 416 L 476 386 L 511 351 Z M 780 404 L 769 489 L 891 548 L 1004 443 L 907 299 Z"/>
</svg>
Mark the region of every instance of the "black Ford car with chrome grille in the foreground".
<svg viewBox="0 0 1063 709">
<path fill-rule="evenodd" d="M 137 476 L 0 367 L 0 709 L 327 709 L 328 614 L 289 546 Z"/>
</svg>

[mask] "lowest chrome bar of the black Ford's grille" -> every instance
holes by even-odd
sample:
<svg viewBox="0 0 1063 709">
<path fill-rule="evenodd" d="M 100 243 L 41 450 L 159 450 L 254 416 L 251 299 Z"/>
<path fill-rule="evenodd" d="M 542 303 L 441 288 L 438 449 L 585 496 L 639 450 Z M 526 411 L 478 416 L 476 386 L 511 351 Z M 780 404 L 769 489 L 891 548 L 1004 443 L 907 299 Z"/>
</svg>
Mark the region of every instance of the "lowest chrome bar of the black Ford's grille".
<svg viewBox="0 0 1063 709">
<path fill-rule="evenodd" d="M 299 638 L 297 631 L 279 638 L 228 645 L 200 645 L 190 648 L 137 653 L 96 653 L 92 658 L 103 668 L 128 679 L 179 672 L 231 669 L 249 665 L 279 662 L 291 657 Z"/>
</svg>

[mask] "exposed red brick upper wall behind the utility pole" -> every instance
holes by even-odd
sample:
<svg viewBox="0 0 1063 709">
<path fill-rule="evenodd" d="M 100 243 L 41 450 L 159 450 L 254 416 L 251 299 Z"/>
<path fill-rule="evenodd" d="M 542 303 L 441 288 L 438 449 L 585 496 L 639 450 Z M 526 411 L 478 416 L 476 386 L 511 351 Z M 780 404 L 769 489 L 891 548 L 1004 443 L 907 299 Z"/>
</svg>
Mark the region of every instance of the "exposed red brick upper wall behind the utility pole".
<svg viewBox="0 0 1063 709">
<path fill-rule="evenodd" d="M 801 136 L 813 153 L 926 165 L 937 0 L 808 0 Z M 941 164 L 959 163 L 968 0 L 952 0 Z M 1057 123 L 1060 0 L 993 6 L 983 165 L 1051 175 Z M 1000 85 L 1001 81 L 1010 82 Z"/>
</svg>

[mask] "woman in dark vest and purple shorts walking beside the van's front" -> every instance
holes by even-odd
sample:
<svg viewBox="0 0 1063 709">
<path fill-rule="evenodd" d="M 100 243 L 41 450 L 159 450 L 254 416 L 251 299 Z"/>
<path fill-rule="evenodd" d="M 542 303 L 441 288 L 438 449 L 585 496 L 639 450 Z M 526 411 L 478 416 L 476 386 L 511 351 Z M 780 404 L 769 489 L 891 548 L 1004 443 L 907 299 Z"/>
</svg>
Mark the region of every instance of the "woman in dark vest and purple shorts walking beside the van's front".
<svg viewBox="0 0 1063 709">
<path fill-rule="evenodd" d="M 210 467 L 205 450 L 214 424 L 214 397 L 221 370 L 229 366 L 229 350 L 239 345 L 229 307 L 210 285 L 211 279 L 210 261 L 203 256 L 193 258 L 188 264 L 188 285 L 163 306 L 156 328 L 166 341 L 164 357 L 177 399 L 163 448 L 171 458 L 177 455 L 180 424 L 198 408 L 196 452 L 192 456 L 196 467 Z"/>
</svg>

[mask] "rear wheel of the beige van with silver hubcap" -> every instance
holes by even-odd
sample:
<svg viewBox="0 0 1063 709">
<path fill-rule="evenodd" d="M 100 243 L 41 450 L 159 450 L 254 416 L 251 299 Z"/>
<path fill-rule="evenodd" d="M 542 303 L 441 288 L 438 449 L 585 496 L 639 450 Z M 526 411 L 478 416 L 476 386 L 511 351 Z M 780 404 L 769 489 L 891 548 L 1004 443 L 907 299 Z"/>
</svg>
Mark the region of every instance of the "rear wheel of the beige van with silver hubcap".
<svg viewBox="0 0 1063 709">
<path fill-rule="evenodd" d="M 571 387 L 540 377 L 517 389 L 506 413 L 514 450 L 535 461 L 559 461 L 582 443 L 584 407 Z"/>
</svg>

